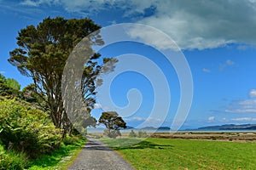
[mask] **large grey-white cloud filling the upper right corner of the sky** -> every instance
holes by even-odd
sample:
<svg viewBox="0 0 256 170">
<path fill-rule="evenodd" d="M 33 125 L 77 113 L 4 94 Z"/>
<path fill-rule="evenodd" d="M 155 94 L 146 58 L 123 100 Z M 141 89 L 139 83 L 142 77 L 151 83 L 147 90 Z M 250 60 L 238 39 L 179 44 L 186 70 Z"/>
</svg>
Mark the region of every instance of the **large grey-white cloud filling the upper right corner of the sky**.
<svg viewBox="0 0 256 170">
<path fill-rule="evenodd" d="M 165 31 L 180 48 L 218 48 L 230 42 L 256 43 L 253 38 L 256 27 L 253 17 L 256 14 L 255 3 L 247 0 L 236 3 L 221 0 L 207 3 L 170 0 L 157 2 L 150 2 L 156 8 L 155 13 L 137 22 Z"/>
</svg>

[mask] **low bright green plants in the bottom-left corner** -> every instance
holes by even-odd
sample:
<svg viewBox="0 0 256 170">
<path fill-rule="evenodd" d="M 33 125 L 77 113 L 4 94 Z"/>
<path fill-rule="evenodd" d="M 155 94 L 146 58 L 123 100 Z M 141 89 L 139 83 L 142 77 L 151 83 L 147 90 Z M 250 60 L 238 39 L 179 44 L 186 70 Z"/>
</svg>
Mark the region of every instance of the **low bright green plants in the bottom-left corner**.
<svg viewBox="0 0 256 170">
<path fill-rule="evenodd" d="M 15 151 L 6 151 L 3 145 L 0 145 L 0 170 L 21 170 L 27 165 L 26 155 L 23 153 L 16 153 Z"/>
</svg>

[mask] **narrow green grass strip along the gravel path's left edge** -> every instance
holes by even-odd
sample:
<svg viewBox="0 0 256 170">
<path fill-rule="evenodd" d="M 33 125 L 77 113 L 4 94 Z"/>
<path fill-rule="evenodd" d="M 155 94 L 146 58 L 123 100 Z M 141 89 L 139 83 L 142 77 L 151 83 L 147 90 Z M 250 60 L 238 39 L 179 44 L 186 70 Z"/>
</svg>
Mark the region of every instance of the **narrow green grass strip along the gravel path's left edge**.
<svg viewBox="0 0 256 170">
<path fill-rule="evenodd" d="M 76 156 L 79 155 L 86 139 L 75 139 L 73 137 L 68 140 L 66 142 L 67 145 L 61 144 L 61 148 L 55 150 L 50 155 L 39 157 L 35 161 L 30 162 L 31 167 L 29 170 L 67 169 Z"/>
</svg>

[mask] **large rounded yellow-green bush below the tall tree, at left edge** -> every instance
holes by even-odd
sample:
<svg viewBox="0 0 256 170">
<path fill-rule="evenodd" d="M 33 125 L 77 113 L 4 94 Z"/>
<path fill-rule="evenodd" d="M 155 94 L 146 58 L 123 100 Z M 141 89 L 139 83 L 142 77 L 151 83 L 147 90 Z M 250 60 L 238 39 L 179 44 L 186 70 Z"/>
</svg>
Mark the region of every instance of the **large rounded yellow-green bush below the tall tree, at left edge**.
<svg viewBox="0 0 256 170">
<path fill-rule="evenodd" d="M 61 133 L 43 111 L 15 99 L 0 100 L 0 139 L 5 149 L 25 152 L 33 158 L 58 148 Z"/>
</svg>

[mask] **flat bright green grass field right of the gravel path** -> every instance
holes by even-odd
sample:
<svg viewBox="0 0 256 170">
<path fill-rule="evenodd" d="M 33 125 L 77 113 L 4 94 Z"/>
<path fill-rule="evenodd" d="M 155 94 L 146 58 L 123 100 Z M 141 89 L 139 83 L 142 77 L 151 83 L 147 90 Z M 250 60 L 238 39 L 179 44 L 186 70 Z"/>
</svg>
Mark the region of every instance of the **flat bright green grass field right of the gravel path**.
<svg viewBox="0 0 256 170">
<path fill-rule="evenodd" d="M 256 143 L 149 138 L 138 144 L 119 147 L 119 140 L 102 139 L 106 144 L 115 144 L 112 148 L 136 169 L 226 170 L 256 167 Z"/>
</svg>

